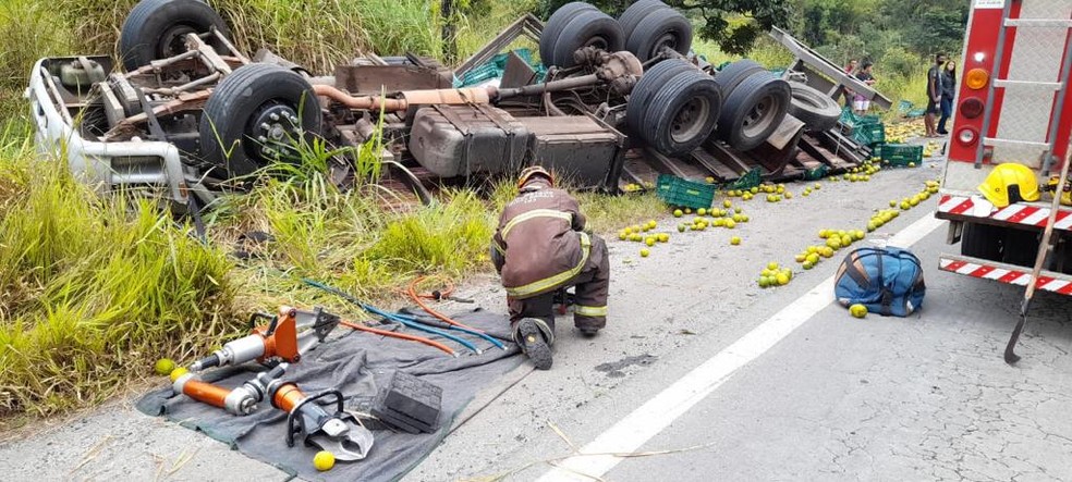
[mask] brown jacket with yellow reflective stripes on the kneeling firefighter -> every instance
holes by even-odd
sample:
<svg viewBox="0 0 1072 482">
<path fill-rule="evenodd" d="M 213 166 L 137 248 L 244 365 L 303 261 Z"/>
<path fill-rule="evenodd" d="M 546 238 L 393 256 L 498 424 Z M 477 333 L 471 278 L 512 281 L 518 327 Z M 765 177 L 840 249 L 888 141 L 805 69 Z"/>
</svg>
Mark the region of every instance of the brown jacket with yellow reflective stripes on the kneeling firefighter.
<svg viewBox="0 0 1072 482">
<path fill-rule="evenodd" d="M 499 217 L 492 260 L 507 295 L 528 298 L 552 292 L 588 261 L 592 243 L 576 199 L 562 189 L 525 186 Z"/>
</svg>

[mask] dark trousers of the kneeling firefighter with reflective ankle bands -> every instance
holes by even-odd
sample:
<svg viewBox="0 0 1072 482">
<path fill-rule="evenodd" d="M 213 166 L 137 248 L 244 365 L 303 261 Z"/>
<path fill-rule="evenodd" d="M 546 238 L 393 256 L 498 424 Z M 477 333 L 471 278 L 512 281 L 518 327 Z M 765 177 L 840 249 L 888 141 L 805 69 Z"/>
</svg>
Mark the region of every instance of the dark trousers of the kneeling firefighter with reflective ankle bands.
<svg viewBox="0 0 1072 482">
<path fill-rule="evenodd" d="M 584 269 L 573 279 L 548 293 L 529 298 L 507 297 L 510 324 L 522 318 L 539 318 L 555 330 L 555 292 L 576 286 L 573 306 L 573 324 L 578 329 L 599 330 L 607 326 L 607 292 L 610 289 L 610 258 L 607 243 L 592 235 L 592 251 Z"/>
</svg>

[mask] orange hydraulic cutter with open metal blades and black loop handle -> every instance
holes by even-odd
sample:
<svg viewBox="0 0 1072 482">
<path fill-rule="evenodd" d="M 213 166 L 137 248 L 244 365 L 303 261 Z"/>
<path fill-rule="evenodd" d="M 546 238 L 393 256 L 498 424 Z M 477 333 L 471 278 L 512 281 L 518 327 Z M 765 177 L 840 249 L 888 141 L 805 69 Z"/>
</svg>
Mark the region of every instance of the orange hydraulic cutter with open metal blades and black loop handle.
<svg viewBox="0 0 1072 482">
<path fill-rule="evenodd" d="M 345 411 L 342 393 L 329 390 L 308 396 L 294 383 L 275 385 L 271 406 L 285 411 L 287 446 L 294 446 L 294 435 L 302 435 L 306 445 L 328 450 L 339 461 L 365 458 L 373 447 L 373 433 L 357 418 Z M 333 397 L 336 410 L 328 413 L 317 400 Z"/>
</svg>

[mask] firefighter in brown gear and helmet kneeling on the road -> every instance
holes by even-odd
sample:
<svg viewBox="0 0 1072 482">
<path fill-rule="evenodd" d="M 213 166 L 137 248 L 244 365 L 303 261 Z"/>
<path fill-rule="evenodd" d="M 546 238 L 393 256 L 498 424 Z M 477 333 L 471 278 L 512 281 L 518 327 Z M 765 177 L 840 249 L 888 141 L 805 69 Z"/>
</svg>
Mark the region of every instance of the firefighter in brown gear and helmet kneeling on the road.
<svg viewBox="0 0 1072 482">
<path fill-rule="evenodd" d="M 507 288 L 513 337 L 540 370 L 551 368 L 555 295 L 576 286 L 573 323 L 585 336 L 607 325 L 610 261 L 602 238 L 585 232 L 576 199 L 544 168 L 522 171 L 520 193 L 499 217 L 491 260 Z"/>
</svg>

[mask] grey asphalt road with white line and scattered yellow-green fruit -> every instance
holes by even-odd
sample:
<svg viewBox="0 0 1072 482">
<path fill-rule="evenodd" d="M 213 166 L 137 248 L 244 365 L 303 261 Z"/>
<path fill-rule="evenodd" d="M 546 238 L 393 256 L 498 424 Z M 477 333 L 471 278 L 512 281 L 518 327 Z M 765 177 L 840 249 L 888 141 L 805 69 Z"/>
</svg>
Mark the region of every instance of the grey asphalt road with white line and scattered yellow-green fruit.
<svg viewBox="0 0 1072 482">
<path fill-rule="evenodd" d="M 1010 368 L 1001 350 L 1022 292 L 937 271 L 937 254 L 957 249 L 945 245 L 943 226 L 912 246 L 928 292 L 923 310 L 906 319 L 856 320 L 831 302 L 832 293 L 813 292 L 840 256 L 797 270 L 788 286 L 756 286 L 767 262 L 792 263 L 795 252 L 819 242 L 819 228 L 862 227 L 890 199 L 918 191 L 937 166 L 882 172 L 869 183 L 824 182 L 808 198 L 776 205 L 738 202 L 752 222 L 732 232 L 674 231 L 649 258 L 638 256 L 636 244 L 610 242 L 608 329 L 585 339 L 559 318 L 552 370 L 526 363 L 504 376 L 405 480 L 585 480 L 549 472 L 549 462 L 608 437 L 612 443 L 601 446 L 649 454 L 611 459 L 594 473 L 613 481 L 1072 480 L 1065 412 L 1072 300 L 1037 295 L 1020 347 L 1024 359 Z M 792 186 L 799 194 L 801 185 Z M 926 219 L 934 203 L 865 243 L 933 227 Z M 675 224 L 660 220 L 660 228 Z M 743 238 L 741 246 L 729 245 L 732 235 Z M 504 311 L 491 280 L 474 280 L 460 293 Z M 782 330 L 765 331 L 772 322 Z M 755 338 L 757 327 L 764 343 L 744 343 L 753 355 L 744 357 L 741 341 Z M 681 382 L 704 367 L 724 373 L 706 385 Z M 638 409 L 651 416 L 629 418 Z M 650 454 L 660 450 L 668 453 Z M 590 467 L 595 459 L 565 464 Z M 0 473 L 10 480 L 285 479 L 123 400 L 0 445 Z"/>
</svg>

